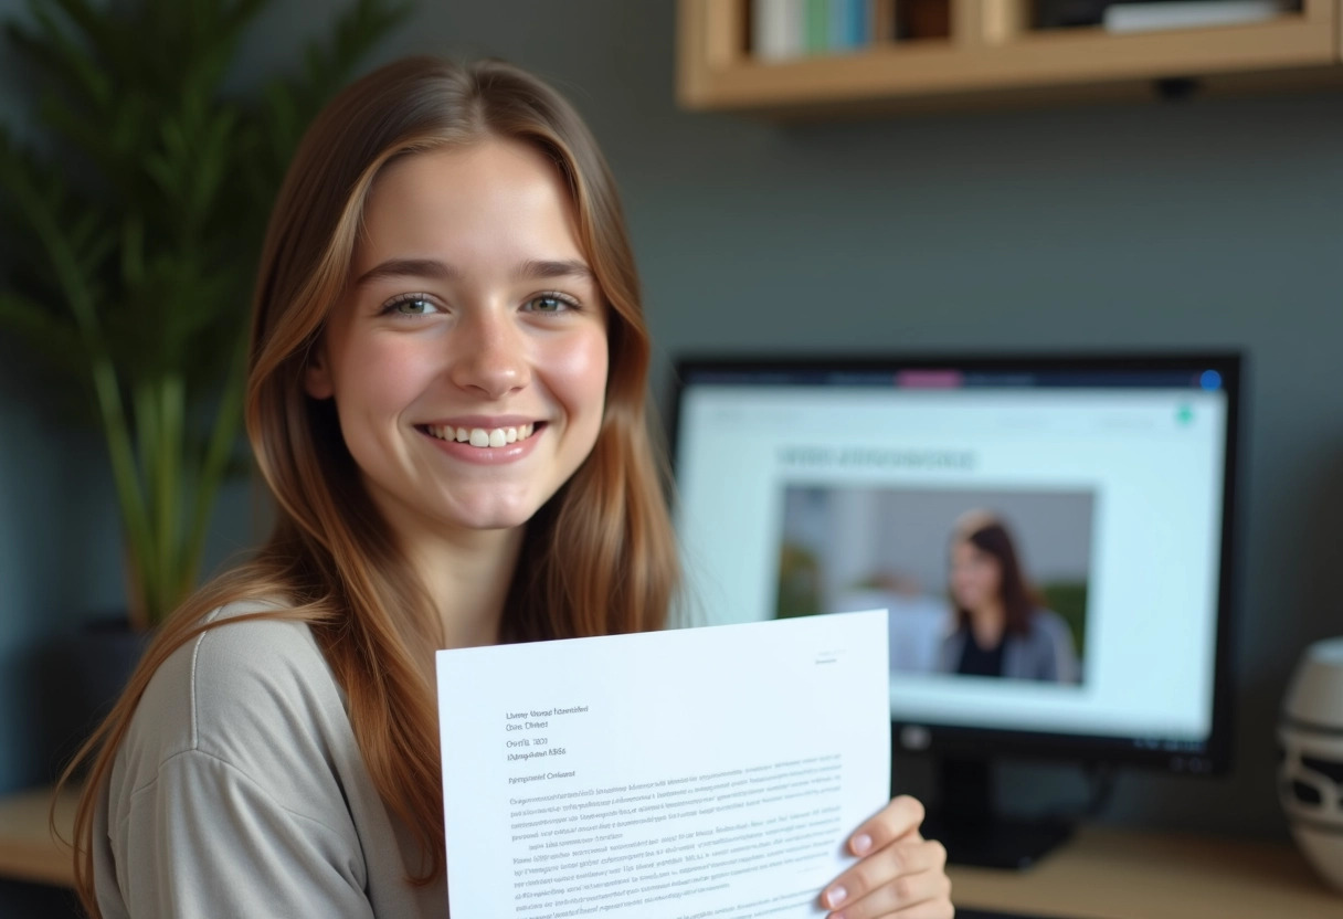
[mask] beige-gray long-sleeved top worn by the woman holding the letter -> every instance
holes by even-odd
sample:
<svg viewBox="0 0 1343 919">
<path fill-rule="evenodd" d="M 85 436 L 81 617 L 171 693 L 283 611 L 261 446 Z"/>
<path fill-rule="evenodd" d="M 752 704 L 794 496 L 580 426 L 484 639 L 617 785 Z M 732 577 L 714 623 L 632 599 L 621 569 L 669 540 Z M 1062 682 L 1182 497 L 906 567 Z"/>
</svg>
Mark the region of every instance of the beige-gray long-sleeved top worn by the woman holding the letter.
<svg viewBox="0 0 1343 919">
<path fill-rule="evenodd" d="M 106 919 L 446 916 L 442 881 L 406 883 L 415 859 L 326 660 L 294 622 L 223 625 L 179 648 L 136 709 L 94 818 Z"/>
</svg>

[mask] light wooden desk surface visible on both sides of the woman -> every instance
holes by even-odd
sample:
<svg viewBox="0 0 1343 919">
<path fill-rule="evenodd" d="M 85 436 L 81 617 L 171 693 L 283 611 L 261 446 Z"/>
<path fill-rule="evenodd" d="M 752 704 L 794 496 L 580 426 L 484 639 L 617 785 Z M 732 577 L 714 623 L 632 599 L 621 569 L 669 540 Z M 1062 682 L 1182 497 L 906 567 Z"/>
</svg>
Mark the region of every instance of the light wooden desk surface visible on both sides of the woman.
<svg viewBox="0 0 1343 919">
<path fill-rule="evenodd" d="M 47 832 L 50 794 L 0 798 L 0 876 L 73 883 L 70 852 Z M 74 793 L 62 797 L 59 826 L 74 822 Z M 1088 828 L 1027 871 L 950 873 L 956 904 L 979 910 L 1066 919 L 1343 918 L 1343 893 L 1277 842 Z"/>
</svg>

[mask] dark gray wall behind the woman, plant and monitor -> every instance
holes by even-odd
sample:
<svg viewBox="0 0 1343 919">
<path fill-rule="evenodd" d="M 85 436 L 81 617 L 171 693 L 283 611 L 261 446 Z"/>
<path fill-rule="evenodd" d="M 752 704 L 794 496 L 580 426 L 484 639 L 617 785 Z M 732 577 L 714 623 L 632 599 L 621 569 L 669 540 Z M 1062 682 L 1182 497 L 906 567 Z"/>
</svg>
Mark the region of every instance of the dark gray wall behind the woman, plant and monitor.
<svg viewBox="0 0 1343 919">
<path fill-rule="evenodd" d="M 0 0 L 0 13 L 13 5 Z M 337 5 L 281 4 L 250 59 L 283 66 Z M 1244 348 L 1236 771 L 1125 773 L 1105 818 L 1283 832 L 1275 709 L 1303 646 L 1343 633 L 1343 97 L 778 126 L 674 107 L 670 0 L 422 7 L 384 56 L 500 55 L 588 117 L 624 191 L 663 361 L 705 349 Z M 30 407 L 27 371 L 0 379 L 0 674 L 12 674 L 120 584 L 97 442 Z M 226 543 L 244 533 L 242 519 L 220 525 Z M 0 789 L 32 778 L 21 692 L 0 683 Z M 1005 782 L 1019 802 L 1081 793 L 1058 767 Z"/>
</svg>

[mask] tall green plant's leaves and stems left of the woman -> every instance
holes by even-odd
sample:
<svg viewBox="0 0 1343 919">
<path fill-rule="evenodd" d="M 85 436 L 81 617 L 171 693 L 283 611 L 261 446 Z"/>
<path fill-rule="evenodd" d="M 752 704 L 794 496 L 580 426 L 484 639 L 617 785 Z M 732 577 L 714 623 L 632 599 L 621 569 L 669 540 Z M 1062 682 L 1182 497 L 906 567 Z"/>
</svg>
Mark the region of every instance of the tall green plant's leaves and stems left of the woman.
<svg viewBox="0 0 1343 919">
<path fill-rule="evenodd" d="M 133 626 L 196 587 L 243 468 L 246 317 L 271 200 L 309 118 L 407 12 L 353 0 L 299 73 L 228 89 L 269 0 L 28 0 L 8 43 L 38 79 L 27 145 L 0 125 L 0 335 L 103 435 Z"/>
</svg>

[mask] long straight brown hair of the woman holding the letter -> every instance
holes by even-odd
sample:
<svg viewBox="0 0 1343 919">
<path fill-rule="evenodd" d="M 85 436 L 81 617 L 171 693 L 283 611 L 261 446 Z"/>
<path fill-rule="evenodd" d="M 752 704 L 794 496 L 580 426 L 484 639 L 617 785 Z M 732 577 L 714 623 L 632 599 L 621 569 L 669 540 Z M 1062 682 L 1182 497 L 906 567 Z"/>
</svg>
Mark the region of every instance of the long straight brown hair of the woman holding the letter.
<svg viewBox="0 0 1343 919">
<path fill-rule="evenodd" d="M 445 867 L 438 721 L 431 691 L 441 626 L 422 583 L 364 492 L 329 402 L 304 368 L 348 282 L 369 189 L 391 160 L 500 137 L 541 150 L 568 185 L 579 243 L 607 309 L 606 408 L 592 453 L 528 523 L 505 603 L 506 641 L 659 627 L 678 582 L 647 430 L 649 336 L 615 183 L 577 113 L 529 74 L 500 63 L 411 58 L 355 82 L 309 128 L 281 188 L 254 300 L 247 434 L 275 501 L 270 539 L 164 623 L 121 700 L 66 770 L 90 760 L 75 817 L 75 885 L 90 915 L 93 816 L 117 747 L 154 670 L 244 599 L 286 609 L 228 619 L 310 623 L 348 695 L 372 781 L 423 855 L 414 883 Z"/>
</svg>

